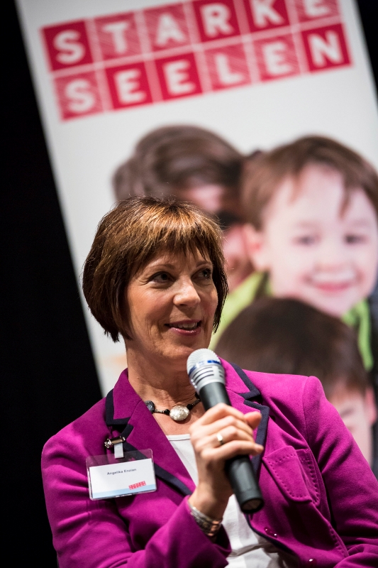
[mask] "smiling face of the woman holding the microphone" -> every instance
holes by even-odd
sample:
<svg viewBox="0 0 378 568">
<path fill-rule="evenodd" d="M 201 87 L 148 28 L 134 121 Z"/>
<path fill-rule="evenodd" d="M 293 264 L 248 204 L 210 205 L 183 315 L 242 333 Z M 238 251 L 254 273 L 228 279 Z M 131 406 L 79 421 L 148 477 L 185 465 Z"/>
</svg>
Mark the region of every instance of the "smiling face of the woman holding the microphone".
<svg viewBox="0 0 378 568">
<path fill-rule="evenodd" d="M 126 289 L 130 334 L 126 349 L 181 367 L 209 346 L 218 295 L 209 257 L 158 253 Z"/>
</svg>

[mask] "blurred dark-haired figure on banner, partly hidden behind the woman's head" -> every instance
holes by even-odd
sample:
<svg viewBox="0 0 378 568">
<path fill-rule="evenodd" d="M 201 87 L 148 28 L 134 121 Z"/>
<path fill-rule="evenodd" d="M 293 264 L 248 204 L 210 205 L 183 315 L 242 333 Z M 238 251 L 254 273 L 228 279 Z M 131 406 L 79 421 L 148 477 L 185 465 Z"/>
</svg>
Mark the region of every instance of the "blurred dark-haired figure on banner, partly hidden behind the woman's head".
<svg viewBox="0 0 378 568">
<path fill-rule="evenodd" d="M 234 290 L 252 272 L 243 238 L 240 178 L 243 155 L 197 126 L 151 131 L 113 175 L 118 201 L 133 195 L 172 197 L 214 215 L 223 229 L 228 285 Z"/>
</svg>

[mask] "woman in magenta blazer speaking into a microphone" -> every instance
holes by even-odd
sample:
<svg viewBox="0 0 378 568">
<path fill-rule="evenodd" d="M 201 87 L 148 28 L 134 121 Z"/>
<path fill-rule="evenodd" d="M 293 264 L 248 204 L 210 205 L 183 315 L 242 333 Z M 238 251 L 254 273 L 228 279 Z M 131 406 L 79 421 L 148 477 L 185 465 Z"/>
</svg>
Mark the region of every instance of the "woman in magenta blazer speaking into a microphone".
<svg viewBox="0 0 378 568">
<path fill-rule="evenodd" d="M 60 568 L 377 562 L 377 481 L 316 378 L 223 361 L 233 408 L 205 413 L 195 396 L 187 357 L 208 346 L 227 291 L 213 220 L 177 202 L 122 202 L 99 225 L 83 289 L 105 332 L 123 338 L 128 370 L 45 445 Z M 184 420 L 172 420 L 177 405 Z M 157 491 L 91 501 L 86 460 L 120 436 L 124 452 L 152 449 Z M 223 471 L 237 454 L 253 457 L 265 498 L 253 517 Z"/>
</svg>

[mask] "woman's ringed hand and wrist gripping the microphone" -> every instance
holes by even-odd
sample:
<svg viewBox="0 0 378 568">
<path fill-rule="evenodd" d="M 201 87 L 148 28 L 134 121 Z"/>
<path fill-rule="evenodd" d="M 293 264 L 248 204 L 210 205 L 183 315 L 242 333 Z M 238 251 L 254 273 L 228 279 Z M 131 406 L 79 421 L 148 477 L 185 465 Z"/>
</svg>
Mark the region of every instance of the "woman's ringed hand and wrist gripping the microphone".
<svg viewBox="0 0 378 568">
<path fill-rule="evenodd" d="M 224 471 L 225 461 L 237 455 L 255 456 L 262 452 L 264 448 L 255 443 L 252 432 L 260 420 L 259 412 L 243 414 L 232 406 L 218 404 L 189 428 L 199 475 L 189 501 L 201 513 L 214 519 L 223 517 L 233 494 Z M 223 438 L 223 444 L 217 435 Z"/>
</svg>

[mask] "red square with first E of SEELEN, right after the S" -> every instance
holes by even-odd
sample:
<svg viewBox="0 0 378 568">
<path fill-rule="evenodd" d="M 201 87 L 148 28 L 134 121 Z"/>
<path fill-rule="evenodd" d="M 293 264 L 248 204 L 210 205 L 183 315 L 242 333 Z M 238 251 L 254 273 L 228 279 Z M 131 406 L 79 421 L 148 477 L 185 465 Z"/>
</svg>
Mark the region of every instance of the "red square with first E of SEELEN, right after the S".
<svg viewBox="0 0 378 568">
<path fill-rule="evenodd" d="M 135 107 L 152 102 L 147 73 L 143 63 L 106 69 L 114 109 Z"/>
</svg>

